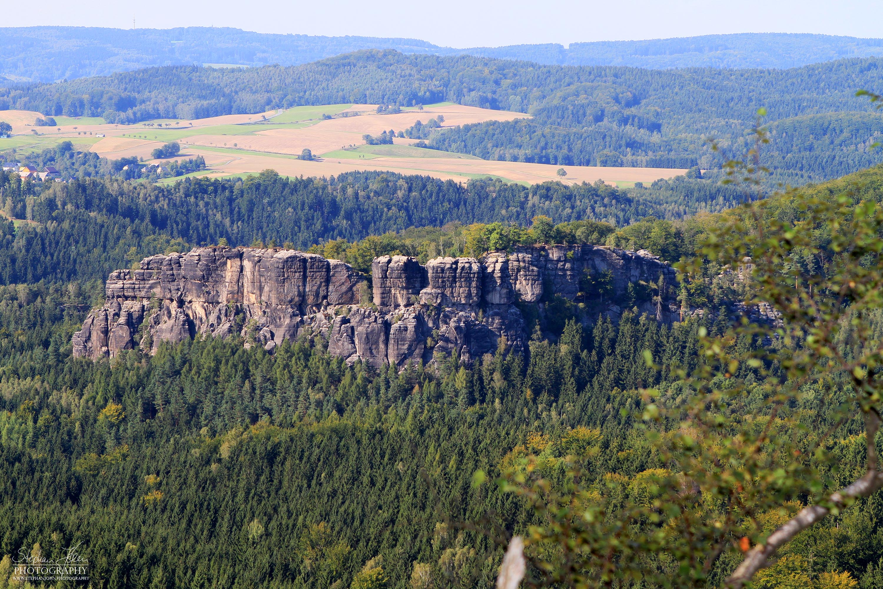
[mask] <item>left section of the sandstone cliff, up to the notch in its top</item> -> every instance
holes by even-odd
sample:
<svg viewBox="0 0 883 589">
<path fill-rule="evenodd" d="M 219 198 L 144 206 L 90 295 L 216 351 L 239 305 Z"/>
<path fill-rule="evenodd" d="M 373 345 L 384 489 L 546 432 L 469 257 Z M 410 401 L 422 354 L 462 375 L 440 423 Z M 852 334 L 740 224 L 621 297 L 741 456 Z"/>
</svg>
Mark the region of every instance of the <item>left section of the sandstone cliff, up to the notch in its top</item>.
<svg viewBox="0 0 883 589">
<path fill-rule="evenodd" d="M 364 283 L 343 262 L 314 253 L 201 247 L 151 256 L 138 270 L 110 274 L 108 302 L 73 337 L 73 353 L 96 359 L 132 349 L 148 314 L 152 351 L 201 333 L 246 336 L 249 322 L 261 344 L 281 344 L 322 307 L 358 303 Z"/>
</svg>

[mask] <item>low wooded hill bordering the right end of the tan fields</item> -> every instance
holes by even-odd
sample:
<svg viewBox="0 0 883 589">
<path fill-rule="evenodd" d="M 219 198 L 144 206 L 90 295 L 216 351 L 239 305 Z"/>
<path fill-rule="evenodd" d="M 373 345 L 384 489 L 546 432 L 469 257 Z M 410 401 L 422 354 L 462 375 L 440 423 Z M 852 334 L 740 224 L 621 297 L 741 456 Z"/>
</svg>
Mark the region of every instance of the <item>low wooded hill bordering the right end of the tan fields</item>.
<svg viewBox="0 0 883 589">
<path fill-rule="evenodd" d="M 883 116 L 840 112 L 788 117 L 769 125 L 769 133 L 771 143 L 766 146 L 764 161 L 775 170 L 774 181 L 804 185 L 879 163 L 881 155 L 872 146 L 883 134 Z M 732 148 L 725 138 L 726 133 L 718 137 Z M 435 149 L 509 162 L 638 168 L 698 165 L 706 169 L 720 163 L 712 155 L 711 143 L 703 144 L 698 137 L 666 139 L 664 132 L 603 119 L 594 125 L 572 127 L 539 116 L 492 121 L 437 131 L 429 139 L 429 146 Z"/>
</svg>

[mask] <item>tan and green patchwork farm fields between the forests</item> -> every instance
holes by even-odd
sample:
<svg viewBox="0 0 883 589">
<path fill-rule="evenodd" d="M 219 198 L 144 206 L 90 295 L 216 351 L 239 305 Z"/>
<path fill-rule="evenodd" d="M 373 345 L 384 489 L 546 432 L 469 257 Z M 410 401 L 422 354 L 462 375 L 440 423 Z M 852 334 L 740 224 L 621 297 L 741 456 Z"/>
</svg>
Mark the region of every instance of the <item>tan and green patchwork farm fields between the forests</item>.
<svg viewBox="0 0 883 589">
<path fill-rule="evenodd" d="M 423 109 L 378 113 L 374 104 L 332 104 L 271 110 L 261 114 L 226 115 L 194 120 L 162 119 L 137 125 L 109 125 L 100 118 L 56 117 L 55 125 L 35 126 L 43 116 L 24 110 L 4 111 L 0 119 L 12 125 L 11 138 L 0 140 L 0 151 L 15 147 L 40 150 L 70 140 L 110 159 L 137 156 L 151 162 L 151 152 L 170 141 L 182 148 L 178 158 L 202 155 L 207 170 L 200 176 L 247 175 L 273 169 L 285 176 L 331 176 L 351 170 L 390 170 L 426 174 L 442 179 L 500 177 L 521 184 L 562 179 L 567 184 L 631 185 L 673 177 L 684 170 L 657 168 L 602 168 L 560 166 L 525 162 L 486 161 L 472 155 L 415 147 L 416 139 L 396 137 L 393 144 L 367 145 L 365 135 L 400 131 L 417 121 L 426 125 L 443 119 L 442 127 L 485 121 L 509 121 L 525 114 L 440 103 Z M 300 159 L 305 149 L 312 161 Z"/>
</svg>

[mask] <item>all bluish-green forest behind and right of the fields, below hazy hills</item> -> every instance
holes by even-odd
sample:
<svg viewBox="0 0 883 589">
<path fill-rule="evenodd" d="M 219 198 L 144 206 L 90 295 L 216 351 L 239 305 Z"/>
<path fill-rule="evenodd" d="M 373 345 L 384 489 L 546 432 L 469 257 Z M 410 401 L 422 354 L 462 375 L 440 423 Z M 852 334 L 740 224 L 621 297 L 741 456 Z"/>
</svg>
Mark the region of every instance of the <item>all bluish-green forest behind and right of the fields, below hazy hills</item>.
<svg viewBox="0 0 883 589">
<path fill-rule="evenodd" d="M 429 136 L 432 147 L 556 165 L 710 169 L 721 162 L 709 140 L 743 151 L 743 129 L 764 107 L 774 131 L 771 162 L 781 179 L 803 184 L 883 158 L 870 149 L 883 115 L 855 97 L 877 85 L 880 63 L 870 57 L 789 70 L 660 71 L 366 50 L 291 67 L 170 66 L 6 87 L 0 109 L 127 124 L 304 104 L 451 101 L 532 118 L 439 129 Z"/>
</svg>

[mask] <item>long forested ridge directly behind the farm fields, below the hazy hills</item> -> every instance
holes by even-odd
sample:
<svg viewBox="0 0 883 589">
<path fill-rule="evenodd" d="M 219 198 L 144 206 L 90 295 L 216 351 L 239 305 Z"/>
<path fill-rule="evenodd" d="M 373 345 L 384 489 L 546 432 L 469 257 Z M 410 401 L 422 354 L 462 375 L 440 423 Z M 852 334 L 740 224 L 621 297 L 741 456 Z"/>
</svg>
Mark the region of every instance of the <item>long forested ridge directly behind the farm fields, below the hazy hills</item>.
<svg viewBox="0 0 883 589">
<path fill-rule="evenodd" d="M 712 129 L 727 129 L 742 125 L 761 106 L 776 118 L 865 110 L 864 104 L 851 98 L 858 88 L 873 87 L 878 70 L 877 58 L 843 59 L 781 71 L 653 71 L 368 50 L 293 67 L 216 70 L 170 66 L 6 88 L 2 103 L 50 116 L 101 117 L 110 111 L 117 115 L 109 117 L 123 117 L 120 122 L 125 122 L 342 102 L 411 106 L 449 100 L 529 112 L 543 109 L 547 101 L 546 108 L 561 105 L 576 109 L 572 120 L 577 123 L 591 114 L 608 120 L 630 117 L 638 127 L 650 129 L 654 122 L 677 126 L 712 122 Z M 590 98 L 591 103 L 585 104 L 581 97 Z M 640 109 L 632 109 L 638 105 Z M 613 112 L 607 114 L 608 109 Z M 695 120 L 699 113 L 704 120 Z M 660 121 L 660 115 L 668 120 Z M 562 113 L 549 118 L 570 125 Z"/>
</svg>

